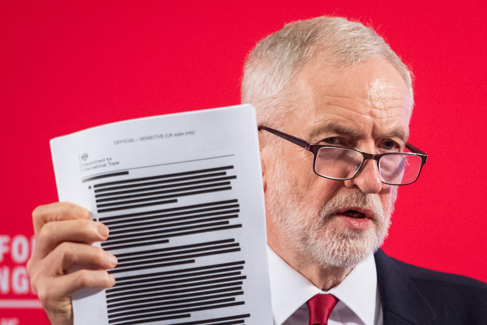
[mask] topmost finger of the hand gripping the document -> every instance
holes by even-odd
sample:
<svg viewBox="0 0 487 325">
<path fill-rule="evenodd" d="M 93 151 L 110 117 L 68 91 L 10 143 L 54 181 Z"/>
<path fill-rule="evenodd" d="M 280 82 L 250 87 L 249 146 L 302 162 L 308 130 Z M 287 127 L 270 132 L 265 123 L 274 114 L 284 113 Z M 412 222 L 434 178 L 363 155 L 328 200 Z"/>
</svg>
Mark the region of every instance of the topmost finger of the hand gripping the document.
<svg viewBox="0 0 487 325">
<path fill-rule="evenodd" d="M 88 217 L 88 210 L 71 202 L 40 205 L 32 211 L 34 234 L 37 235 L 43 225 L 51 221 L 88 219 Z"/>
</svg>

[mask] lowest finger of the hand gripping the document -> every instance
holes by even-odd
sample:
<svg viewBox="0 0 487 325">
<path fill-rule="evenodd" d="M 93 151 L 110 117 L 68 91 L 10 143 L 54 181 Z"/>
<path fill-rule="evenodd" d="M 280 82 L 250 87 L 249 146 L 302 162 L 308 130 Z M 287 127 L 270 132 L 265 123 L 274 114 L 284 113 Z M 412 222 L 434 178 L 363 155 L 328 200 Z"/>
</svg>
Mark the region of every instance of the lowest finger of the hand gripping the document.
<svg viewBox="0 0 487 325">
<path fill-rule="evenodd" d="M 47 305 L 71 297 L 76 291 L 87 287 L 110 288 L 115 285 L 115 278 L 103 270 L 79 270 L 44 281 L 38 287 L 37 295 Z"/>
</svg>

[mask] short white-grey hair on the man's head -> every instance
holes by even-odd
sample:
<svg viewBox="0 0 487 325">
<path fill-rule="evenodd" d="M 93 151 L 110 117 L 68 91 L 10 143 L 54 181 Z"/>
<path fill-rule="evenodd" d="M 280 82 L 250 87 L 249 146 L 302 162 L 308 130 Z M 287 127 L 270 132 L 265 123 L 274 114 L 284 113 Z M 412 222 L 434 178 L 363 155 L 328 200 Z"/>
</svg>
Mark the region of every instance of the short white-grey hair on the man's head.
<svg viewBox="0 0 487 325">
<path fill-rule="evenodd" d="M 401 74 L 413 103 L 412 73 L 382 37 L 360 22 L 322 16 L 286 24 L 247 56 L 241 101 L 256 107 L 259 124 L 282 126 L 292 105 L 289 85 L 318 49 L 323 60 L 343 68 L 386 59 Z"/>
</svg>

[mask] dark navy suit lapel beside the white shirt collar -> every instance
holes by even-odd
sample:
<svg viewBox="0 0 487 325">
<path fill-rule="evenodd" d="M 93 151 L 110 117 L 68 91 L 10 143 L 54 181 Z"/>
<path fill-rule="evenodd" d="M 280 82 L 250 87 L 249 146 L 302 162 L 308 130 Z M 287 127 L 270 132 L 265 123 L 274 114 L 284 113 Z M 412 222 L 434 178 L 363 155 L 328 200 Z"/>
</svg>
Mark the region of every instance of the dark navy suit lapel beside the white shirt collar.
<svg viewBox="0 0 487 325">
<path fill-rule="evenodd" d="M 381 249 L 374 257 L 384 325 L 433 323 L 436 314 L 413 281 Z"/>
</svg>

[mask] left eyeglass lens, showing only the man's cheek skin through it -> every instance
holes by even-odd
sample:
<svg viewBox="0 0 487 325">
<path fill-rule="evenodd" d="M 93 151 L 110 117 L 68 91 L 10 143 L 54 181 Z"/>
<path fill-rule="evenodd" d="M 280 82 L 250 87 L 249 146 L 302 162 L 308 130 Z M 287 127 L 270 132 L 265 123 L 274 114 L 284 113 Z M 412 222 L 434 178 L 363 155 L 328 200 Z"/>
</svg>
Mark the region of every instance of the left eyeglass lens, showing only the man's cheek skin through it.
<svg viewBox="0 0 487 325">
<path fill-rule="evenodd" d="M 362 161 L 362 154 L 355 150 L 320 148 L 316 155 L 315 172 L 325 177 L 348 179 L 355 175 Z"/>
</svg>

